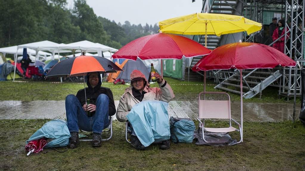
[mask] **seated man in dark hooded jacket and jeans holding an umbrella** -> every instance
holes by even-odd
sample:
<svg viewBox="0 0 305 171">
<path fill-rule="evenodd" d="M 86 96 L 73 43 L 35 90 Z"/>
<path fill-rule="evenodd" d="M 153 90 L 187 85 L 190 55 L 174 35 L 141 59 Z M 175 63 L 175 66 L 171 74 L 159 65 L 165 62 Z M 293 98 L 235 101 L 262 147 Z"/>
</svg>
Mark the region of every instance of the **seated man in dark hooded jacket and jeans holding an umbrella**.
<svg viewBox="0 0 305 171">
<path fill-rule="evenodd" d="M 66 97 L 66 116 L 71 134 L 69 148 L 79 144 L 78 130 L 93 132 L 93 147 L 102 145 L 102 130 L 109 126 L 109 116 L 116 113 L 113 94 L 109 88 L 101 87 L 99 72 L 87 75 L 86 97 L 85 90 L 81 89 L 76 96 L 70 94 Z M 86 102 L 90 104 L 86 104 Z M 87 114 L 88 113 L 88 114 Z"/>
</svg>

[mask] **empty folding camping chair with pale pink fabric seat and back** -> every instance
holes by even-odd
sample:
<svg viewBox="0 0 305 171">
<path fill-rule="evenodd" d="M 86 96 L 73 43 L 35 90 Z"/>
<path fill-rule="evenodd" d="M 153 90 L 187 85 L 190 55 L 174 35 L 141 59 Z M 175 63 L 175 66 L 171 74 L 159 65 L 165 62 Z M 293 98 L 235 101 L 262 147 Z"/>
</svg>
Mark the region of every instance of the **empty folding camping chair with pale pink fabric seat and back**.
<svg viewBox="0 0 305 171">
<path fill-rule="evenodd" d="M 206 94 L 225 94 L 228 96 L 228 100 L 201 100 L 200 96 L 203 94 L 205 97 Z M 204 132 L 208 132 L 209 134 L 227 134 L 228 132 L 238 131 L 240 134 L 240 141 L 242 142 L 242 132 L 240 124 L 231 118 L 231 103 L 230 96 L 225 92 L 201 92 L 198 96 L 198 106 L 199 106 L 199 116 L 197 120 L 199 121 L 199 129 L 202 128 L 202 138 L 204 142 Z M 229 127 L 228 128 L 206 128 L 204 125 L 204 119 L 229 119 Z M 201 119 L 203 121 L 201 121 Z M 239 126 L 239 129 L 236 129 L 231 126 L 231 121 L 235 122 Z"/>
</svg>

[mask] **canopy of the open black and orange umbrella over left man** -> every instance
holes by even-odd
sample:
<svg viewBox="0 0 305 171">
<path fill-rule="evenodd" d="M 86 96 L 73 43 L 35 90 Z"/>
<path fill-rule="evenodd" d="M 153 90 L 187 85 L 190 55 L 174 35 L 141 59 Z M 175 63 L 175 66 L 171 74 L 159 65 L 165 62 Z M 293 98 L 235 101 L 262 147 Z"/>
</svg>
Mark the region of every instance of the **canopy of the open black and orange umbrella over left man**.
<svg viewBox="0 0 305 171">
<path fill-rule="evenodd" d="M 100 56 L 77 56 L 60 61 L 45 78 L 85 76 L 89 72 L 115 73 L 121 69 L 112 61 Z"/>
</svg>

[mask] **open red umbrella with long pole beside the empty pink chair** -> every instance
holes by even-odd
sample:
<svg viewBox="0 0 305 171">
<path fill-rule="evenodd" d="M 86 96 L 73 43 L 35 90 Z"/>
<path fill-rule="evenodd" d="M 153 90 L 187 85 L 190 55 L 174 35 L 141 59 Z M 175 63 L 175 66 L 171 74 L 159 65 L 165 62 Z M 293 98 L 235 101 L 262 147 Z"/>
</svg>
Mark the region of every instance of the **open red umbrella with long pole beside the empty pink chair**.
<svg viewBox="0 0 305 171">
<path fill-rule="evenodd" d="M 242 80 L 242 69 L 274 68 L 276 66 L 295 67 L 296 62 L 284 53 L 259 43 L 230 43 L 220 46 L 203 57 L 192 68 L 193 71 L 239 69 Z M 206 75 L 206 74 L 205 74 Z M 204 78 L 204 91 L 206 78 Z M 240 81 L 240 113 L 242 127 L 242 81 Z M 243 139 L 243 138 L 242 138 Z"/>
</svg>

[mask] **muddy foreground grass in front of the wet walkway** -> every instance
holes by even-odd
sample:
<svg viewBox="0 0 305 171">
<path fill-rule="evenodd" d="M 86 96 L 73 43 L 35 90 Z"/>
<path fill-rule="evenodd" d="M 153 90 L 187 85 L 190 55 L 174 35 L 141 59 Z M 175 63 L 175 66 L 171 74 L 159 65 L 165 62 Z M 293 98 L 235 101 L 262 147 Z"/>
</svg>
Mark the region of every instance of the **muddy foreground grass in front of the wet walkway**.
<svg viewBox="0 0 305 171">
<path fill-rule="evenodd" d="M 81 142 L 80 147 L 63 153 L 44 149 L 26 156 L 25 141 L 47 121 L 0 120 L 0 170 L 305 169 L 305 128 L 300 121 L 246 122 L 244 142 L 234 146 L 198 146 L 194 141 L 192 144 L 172 143 L 169 150 L 151 145 L 145 151 L 131 148 L 124 139 L 124 124 L 114 121 L 113 138 L 103 142 L 101 148 Z M 238 134 L 232 137 L 239 138 Z"/>
</svg>

